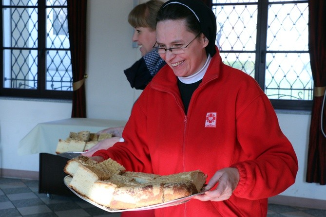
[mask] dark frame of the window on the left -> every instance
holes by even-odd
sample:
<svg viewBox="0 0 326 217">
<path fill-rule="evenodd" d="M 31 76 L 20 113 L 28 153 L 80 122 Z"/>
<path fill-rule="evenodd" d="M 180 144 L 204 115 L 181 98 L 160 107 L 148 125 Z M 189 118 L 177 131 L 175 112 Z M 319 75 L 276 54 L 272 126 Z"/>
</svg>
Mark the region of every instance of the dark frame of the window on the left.
<svg viewBox="0 0 326 217">
<path fill-rule="evenodd" d="M 37 89 L 15 89 L 4 88 L 4 68 L 0 68 L 0 96 L 7 97 L 22 97 L 22 98 L 39 98 L 39 99 L 72 99 L 73 88 L 71 90 L 46 90 L 46 54 L 48 51 L 70 51 L 70 48 L 47 48 L 46 47 L 46 9 L 47 8 L 65 8 L 66 5 L 51 5 L 46 6 L 46 0 L 38 0 L 37 6 L 3 6 L 0 4 L 0 25 L 3 31 L 3 8 L 37 8 L 38 9 L 38 47 L 37 48 L 16 48 L 16 47 L 4 47 L 3 34 L 0 34 L 0 65 L 4 66 L 4 50 L 36 50 L 38 52 L 38 72 L 37 72 Z"/>
</svg>

